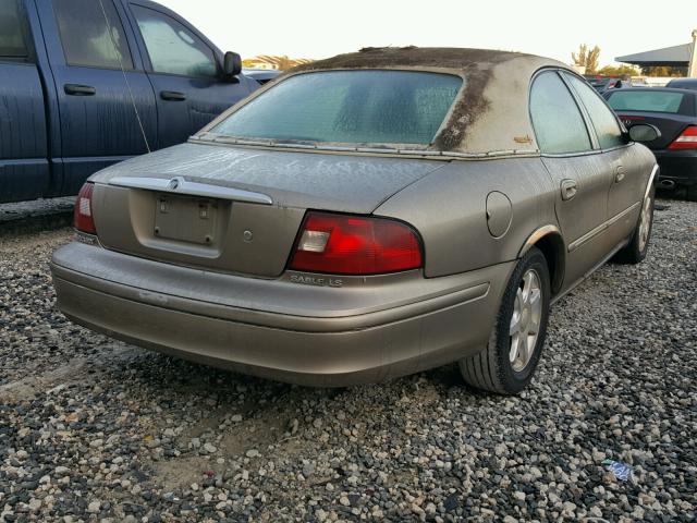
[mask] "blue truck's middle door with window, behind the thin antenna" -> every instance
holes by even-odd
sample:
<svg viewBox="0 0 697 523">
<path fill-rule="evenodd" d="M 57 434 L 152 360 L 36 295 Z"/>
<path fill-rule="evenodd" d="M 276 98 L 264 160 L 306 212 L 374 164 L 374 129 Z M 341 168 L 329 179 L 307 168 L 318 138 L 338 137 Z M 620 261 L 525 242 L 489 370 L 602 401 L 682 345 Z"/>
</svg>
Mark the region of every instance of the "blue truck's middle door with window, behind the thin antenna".
<svg viewBox="0 0 697 523">
<path fill-rule="evenodd" d="M 58 93 L 61 192 L 75 194 L 99 169 L 147 153 L 144 134 L 157 146 L 155 94 L 113 0 L 37 3 Z"/>
</svg>

